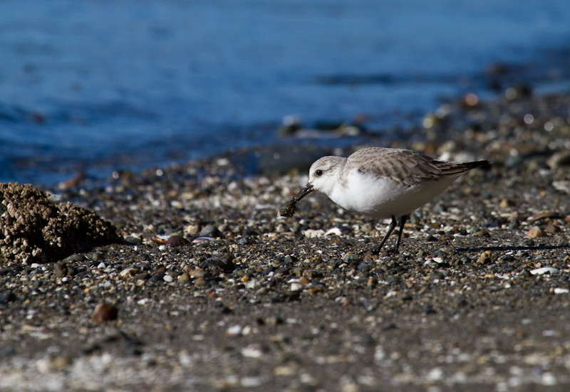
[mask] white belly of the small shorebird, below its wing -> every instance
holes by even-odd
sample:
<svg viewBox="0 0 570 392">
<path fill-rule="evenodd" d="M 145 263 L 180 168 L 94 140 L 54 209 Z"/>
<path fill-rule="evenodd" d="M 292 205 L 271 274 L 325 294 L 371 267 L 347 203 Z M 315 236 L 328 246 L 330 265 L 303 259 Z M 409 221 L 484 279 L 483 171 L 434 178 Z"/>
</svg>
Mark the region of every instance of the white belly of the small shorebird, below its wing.
<svg viewBox="0 0 570 392">
<path fill-rule="evenodd" d="M 431 201 L 456 178 L 425 180 L 405 186 L 388 178 L 378 179 L 353 172 L 346 184 L 335 186 L 329 197 L 347 210 L 374 218 L 400 217 Z"/>
</svg>

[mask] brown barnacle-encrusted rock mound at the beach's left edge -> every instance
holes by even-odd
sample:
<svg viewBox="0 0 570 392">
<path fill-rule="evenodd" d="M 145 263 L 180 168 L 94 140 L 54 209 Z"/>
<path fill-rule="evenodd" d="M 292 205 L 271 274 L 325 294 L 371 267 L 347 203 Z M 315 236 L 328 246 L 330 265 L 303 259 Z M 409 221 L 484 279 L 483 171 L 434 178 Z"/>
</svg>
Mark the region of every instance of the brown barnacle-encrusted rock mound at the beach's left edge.
<svg viewBox="0 0 570 392">
<path fill-rule="evenodd" d="M 0 261 L 46 263 L 118 242 L 115 227 L 73 203 L 54 204 L 30 184 L 0 184 Z"/>
</svg>

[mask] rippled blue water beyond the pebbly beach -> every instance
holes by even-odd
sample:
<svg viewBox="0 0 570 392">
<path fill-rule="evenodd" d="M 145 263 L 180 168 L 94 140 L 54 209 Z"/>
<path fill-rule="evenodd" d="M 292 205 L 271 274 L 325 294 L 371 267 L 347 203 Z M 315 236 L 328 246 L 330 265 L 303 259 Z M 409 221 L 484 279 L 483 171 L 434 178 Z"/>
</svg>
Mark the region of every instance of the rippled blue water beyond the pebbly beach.
<svg viewBox="0 0 570 392">
<path fill-rule="evenodd" d="M 286 143 L 286 115 L 387 132 L 489 95 L 496 63 L 567 87 L 569 21 L 568 0 L 3 0 L 0 181 Z"/>
</svg>

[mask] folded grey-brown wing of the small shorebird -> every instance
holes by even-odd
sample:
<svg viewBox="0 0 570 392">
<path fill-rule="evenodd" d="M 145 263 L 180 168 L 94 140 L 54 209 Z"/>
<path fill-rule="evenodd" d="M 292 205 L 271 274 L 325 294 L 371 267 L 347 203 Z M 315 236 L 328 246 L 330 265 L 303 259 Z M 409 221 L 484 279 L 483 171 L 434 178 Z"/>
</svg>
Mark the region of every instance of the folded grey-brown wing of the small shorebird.
<svg viewBox="0 0 570 392">
<path fill-rule="evenodd" d="M 389 177 L 405 185 L 418 184 L 425 179 L 437 180 L 441 176 L 465 173 L 482 166 L 487 161 L 463 164 L 453 161 L 437 161 L 427 155 L 409 149 L 385 149 L 372 147 L 361 149 L 348 157 L 348 166 L 357 166 L 362 173 Z"/>
</svg>

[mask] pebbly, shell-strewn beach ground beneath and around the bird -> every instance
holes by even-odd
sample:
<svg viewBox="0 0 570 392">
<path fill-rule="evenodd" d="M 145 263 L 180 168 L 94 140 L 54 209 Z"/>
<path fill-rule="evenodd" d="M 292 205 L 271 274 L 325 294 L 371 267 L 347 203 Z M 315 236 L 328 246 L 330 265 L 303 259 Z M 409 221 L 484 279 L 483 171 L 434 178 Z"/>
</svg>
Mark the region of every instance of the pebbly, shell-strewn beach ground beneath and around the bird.
<svg viewBox="0 0 570 392">
<path fill-rule="evenodd" d="M 385 222 L 322 195 L 276 218 L 306 172 L 244 176 L 249 152 L 58 191 L 126 243 L 2 265 L 0 388 L 565 391 L 570 93 L 514 93 L 384 146 L 492 161 L 414 213 L 398 255 L 370 251 Z M 103 303 L 116 319 L 93 319 Z"/>
</svg>

